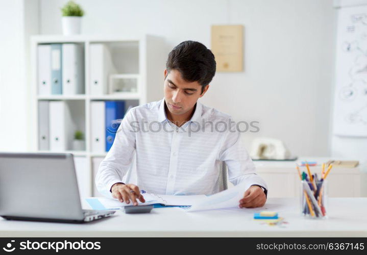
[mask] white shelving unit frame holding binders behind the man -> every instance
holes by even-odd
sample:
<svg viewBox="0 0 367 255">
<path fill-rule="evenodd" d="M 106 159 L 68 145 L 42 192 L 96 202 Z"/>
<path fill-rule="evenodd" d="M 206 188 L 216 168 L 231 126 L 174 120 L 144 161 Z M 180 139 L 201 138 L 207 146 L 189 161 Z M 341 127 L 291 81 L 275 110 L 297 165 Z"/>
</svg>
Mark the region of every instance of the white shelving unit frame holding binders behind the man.
<svg viewBox="0 0 367 255">
<path fill-rule="evenodd" d="M 79 43 L 84 46 L 84 86 L 85 94 L 76 95 L 38 95 L 37 88 L 37 46 L 39 44 L 51 43 Z M 90 70 L 90 45 L 93 43 L 104 43 L 111 48 L 111 56 L 119 65 L 116 74 L 124 77 L 137 77 L 138 89 L 134 93 L 120 92 L 118 94 L 91 95 L 91 70 Z M 135 100 L 137 105 L 142 105 L 150 101 L 160 100 L 163 97 L 163 71 L 168 52 L 164 40 L 161 37 L 143 35 L 137 37 L 123 36 L 96 36 L 96 35 L 39 35 L 31 38 L 31 61 L 32 61 L 32 148 L 38 152 L 62 152 L 71 153 L 76 159 L 76 168 L 80 193 L 82 196 L 98 195 L 94 190 L 94 174 L 97 166 L 93 166 L 93 161 L 100 162 L 107 152 L 94 152 L 91 150 L 91 101 L 93 100 Z M 132 70 L 134 72 L 132 72 Z M 117 76 L 118 76 L 117 75 Z M 130 75 L 130 76 L 129 76 Z M 38 102 L 41 100 L 62 100 L 84 102 L 84 122 L 86 149 L 83 151 L 64 150 L 50 151 L 39 150 L 38 147 Z M 83 103 L 80 103 L 83 104 Z M 94 160 L 95 159 L 95 160 Z M 78 166 L 80 162 L 85 162 Z M 94 168 L 94 172 L 93 172 Z"/>
</svg>

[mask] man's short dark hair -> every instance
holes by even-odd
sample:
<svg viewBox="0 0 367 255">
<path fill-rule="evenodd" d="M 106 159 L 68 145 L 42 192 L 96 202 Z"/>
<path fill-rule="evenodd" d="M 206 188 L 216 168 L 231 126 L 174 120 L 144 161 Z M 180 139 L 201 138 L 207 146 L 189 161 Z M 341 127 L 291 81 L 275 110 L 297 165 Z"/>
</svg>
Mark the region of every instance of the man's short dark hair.
<svg viewBox="0 0 367 255">
<path fill-rule="evenodd" d="M 195 41 L 184 41 L 168 54 L 166 68 L 178 70 L 186 82 L 199 82 L 201 93 L 215 74 L 215 59 L 210 49 Z"/>
</svg>

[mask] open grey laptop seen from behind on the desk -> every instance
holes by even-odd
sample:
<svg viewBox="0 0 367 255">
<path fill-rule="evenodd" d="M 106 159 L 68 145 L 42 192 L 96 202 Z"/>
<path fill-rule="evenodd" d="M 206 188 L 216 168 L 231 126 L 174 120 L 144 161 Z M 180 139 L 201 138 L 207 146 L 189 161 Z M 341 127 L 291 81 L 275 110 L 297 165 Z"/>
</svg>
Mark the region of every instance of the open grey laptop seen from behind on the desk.
<svg viewBox="0 0 367 255">
<path fill-rule="evenodd" d="M 0 216 L 82 223 L 115 211 L 82 210 L 72 154 L 0 153 Z"/>
</svg>

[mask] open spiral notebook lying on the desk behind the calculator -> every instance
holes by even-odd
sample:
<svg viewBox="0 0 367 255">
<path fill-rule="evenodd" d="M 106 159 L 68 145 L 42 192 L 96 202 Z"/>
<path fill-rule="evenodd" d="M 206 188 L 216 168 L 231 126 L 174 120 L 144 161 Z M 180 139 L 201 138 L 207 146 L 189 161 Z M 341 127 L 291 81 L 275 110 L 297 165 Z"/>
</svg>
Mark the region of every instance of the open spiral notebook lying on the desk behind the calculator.
<svg viewBox="0 0 367 255">
<path fill-rule="evenodd" d="M 139 200 L 138 204 L 142 206 L 146 205 L 160 205 L 161 206 L 180 206 L 188 207 L 197 203 L 201 199 L 205 198 L 205 195 L 191 195 L 191 196 L 177 196 L 177 195 L 157 195 L 154 193 L 143 194 L 145 202 L 142 203 Z M 105 198 L 105 197 L 88 197 L 83 201 L 83 207 L 93 210 L 118 210 L 125 206 L 131 206 L 130 203 L 120 202 L 117 199 Z"/>
</svg>

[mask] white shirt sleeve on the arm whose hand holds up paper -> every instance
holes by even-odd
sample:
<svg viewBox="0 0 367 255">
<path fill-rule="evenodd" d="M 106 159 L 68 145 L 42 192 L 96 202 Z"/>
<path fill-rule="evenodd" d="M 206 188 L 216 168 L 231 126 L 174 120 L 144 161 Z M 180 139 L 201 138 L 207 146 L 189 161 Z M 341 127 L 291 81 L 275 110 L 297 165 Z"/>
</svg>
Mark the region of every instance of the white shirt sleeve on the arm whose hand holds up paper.
<svg viewBox="0 0 367 255">
<path fill-rule="evenodd" d="M 255 165 L 244 147 L 241 133 L 235 125 L 229 128 L 224 136 L 218 159 L 226 162 L 229 181 L 233 185 L 243 184 L 245 190 L 252 185 L 259 185 L 267 189 L 265 181 L 256 174 Z"/>
</svg>

